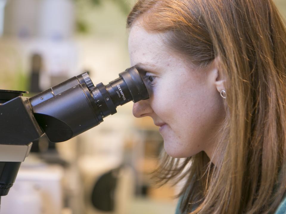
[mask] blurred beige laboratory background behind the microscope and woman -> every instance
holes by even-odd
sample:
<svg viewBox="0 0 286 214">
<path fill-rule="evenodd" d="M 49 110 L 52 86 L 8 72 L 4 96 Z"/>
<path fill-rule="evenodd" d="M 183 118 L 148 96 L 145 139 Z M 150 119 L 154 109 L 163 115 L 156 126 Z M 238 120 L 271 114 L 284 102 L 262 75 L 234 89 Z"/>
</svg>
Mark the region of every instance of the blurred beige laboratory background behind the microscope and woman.
<svg viewBox="0 0 286 214">
<path fill-rule="evenodd" d="M 286 15 L 286 1 L 276 0 Z M 0 0 L 0 89 L 32 97 L 87 71 L 94 84 L 130 67 L 128 12 L 135 0 Z M 180 185 L 156 188 L 163 140 L 130 102 L 62 143 L 33 142 L 1 214 L 175 213 Z M 120 124 L 120 125 L 118 125 Z"/>
</svg>

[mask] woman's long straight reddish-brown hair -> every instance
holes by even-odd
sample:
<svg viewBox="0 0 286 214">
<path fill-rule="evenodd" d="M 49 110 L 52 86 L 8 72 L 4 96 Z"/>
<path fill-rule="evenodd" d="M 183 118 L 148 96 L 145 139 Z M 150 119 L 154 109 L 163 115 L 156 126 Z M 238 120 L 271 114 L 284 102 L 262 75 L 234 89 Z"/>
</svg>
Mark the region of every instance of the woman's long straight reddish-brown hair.
<svg viewBox="0 0 286 214">
<path fill-rule="evenodd" d="M 139 0 L 127 27 L 136 21 L 195 66 L 219 57 L 226 80 L 216 165 L 203 151 L 165 153 L 157 181 L 186 179 L 182 213 L 274 213 L 286 188 L 286 28 L 273 1 Z"/>
</svg>

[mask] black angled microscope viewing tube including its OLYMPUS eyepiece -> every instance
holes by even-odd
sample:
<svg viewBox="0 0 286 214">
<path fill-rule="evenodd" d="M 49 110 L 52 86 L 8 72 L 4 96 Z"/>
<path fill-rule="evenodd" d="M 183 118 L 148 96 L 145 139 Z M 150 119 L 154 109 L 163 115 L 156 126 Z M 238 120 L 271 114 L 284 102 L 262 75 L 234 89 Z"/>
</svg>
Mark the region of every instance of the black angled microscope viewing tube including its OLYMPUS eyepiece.
<svg viewBox="0 0 286 214">
<path fill-rule="evenodd" d="M 116 107 L 148 99 L 146 86 L 135 67 L 108 85 L 94 85 L 83 73 L 29 99 L 34 116 L 52 142 L 66 141 L 100 124 Z"/>
</svg>

